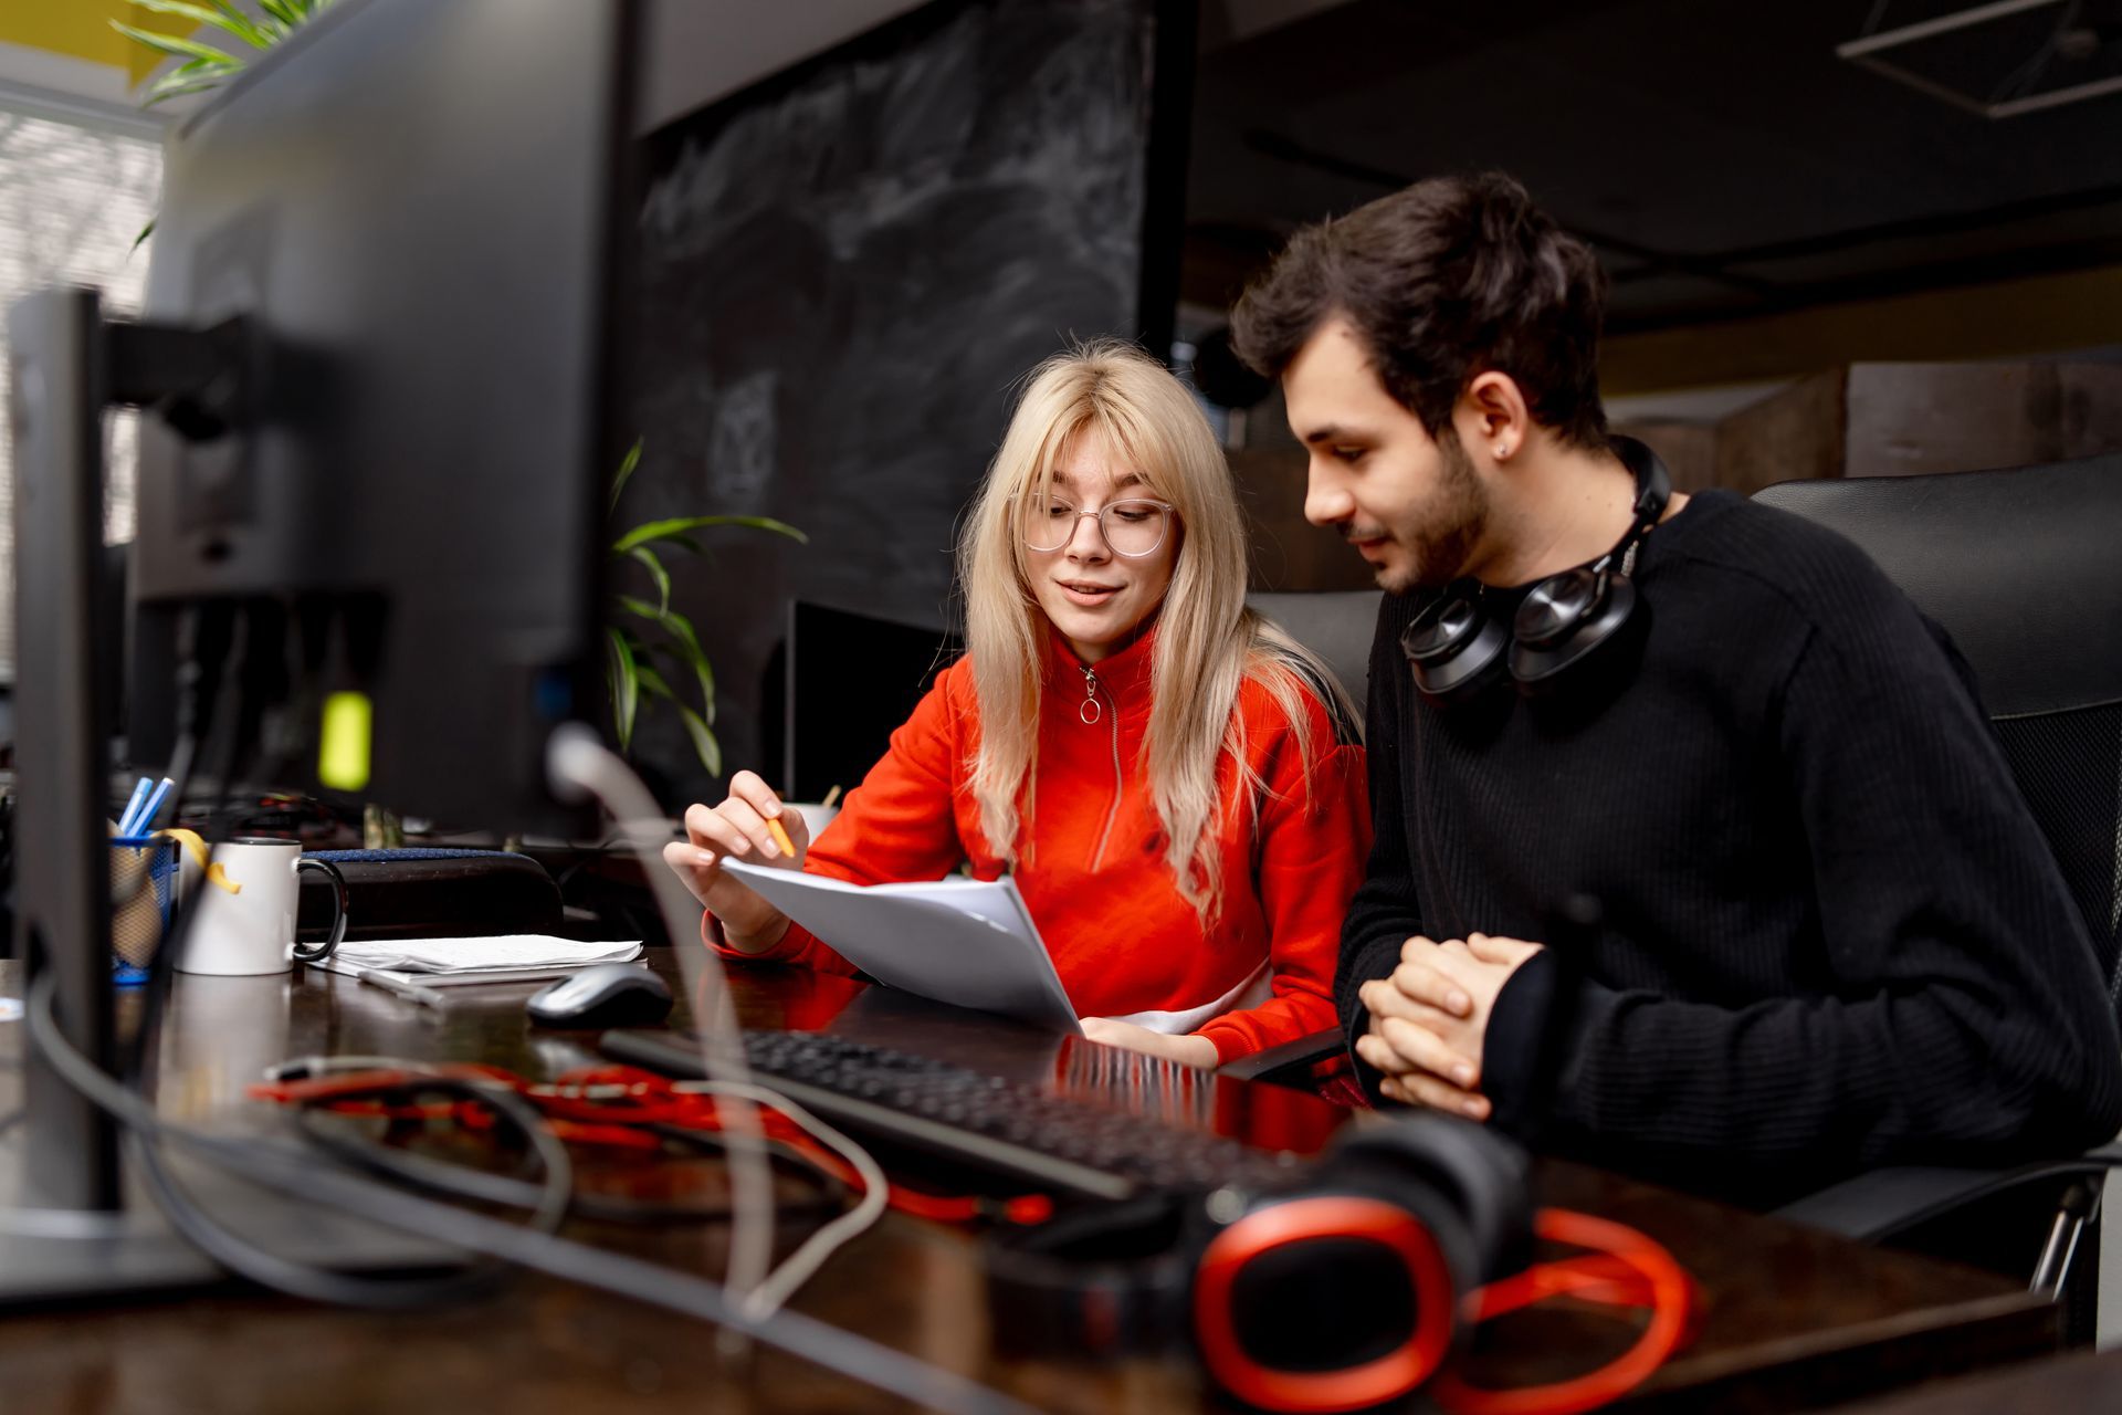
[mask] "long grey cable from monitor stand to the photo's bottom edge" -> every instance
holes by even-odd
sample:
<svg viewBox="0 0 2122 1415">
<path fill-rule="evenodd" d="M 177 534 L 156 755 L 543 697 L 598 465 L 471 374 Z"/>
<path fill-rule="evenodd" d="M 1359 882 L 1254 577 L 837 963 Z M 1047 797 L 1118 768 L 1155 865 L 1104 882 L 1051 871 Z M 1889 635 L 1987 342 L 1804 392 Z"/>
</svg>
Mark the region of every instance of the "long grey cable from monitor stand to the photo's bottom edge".
<svg viewBox="0 0 2122 1415">
<path fill-rule="evenodd" d="M 320 1167 L 274 1146 L 172 1124 L 151 1103 L 74 1050 L 59 1033 L 51 999 L 51 978 L 38 978 L 28 999 L 28 1025 L 36 1046 L 45 1048 L 53 1071 L 127 1126 L 142 1131 L 144 1137 L 182 1143 L 214 1163 L 238 1169 L 255 1184 L 335 1207 L 354 1218 L 452 1247 L 507 1258 L 613 1296 L 743 1330 L 789 1356 L 946 1415 L 1033 1415 L 1031 1407 L 1002 1392 L 802 1313 L 783 1309 L 770 1317 L 751 1317 L 728 1298 L 721 1283 L 705 1277 L 380 1188 L 369 1180 Z"/>
</svg>

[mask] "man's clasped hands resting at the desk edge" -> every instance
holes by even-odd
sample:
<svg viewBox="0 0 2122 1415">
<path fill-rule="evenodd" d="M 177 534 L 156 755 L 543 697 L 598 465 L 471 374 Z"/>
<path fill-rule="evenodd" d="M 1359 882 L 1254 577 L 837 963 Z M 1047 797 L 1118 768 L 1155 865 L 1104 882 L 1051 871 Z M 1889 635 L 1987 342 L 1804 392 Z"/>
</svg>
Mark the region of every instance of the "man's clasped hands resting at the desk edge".
<svg viewBox="0 0 2122 1415">
<path fill-rule="evenodd" d="M 1358 991 L 1371 1031 L 1356 1037 L 1356 1054 L 1386 1073 L 1381 1095 L 1488 1120 L 1490 1101 L 1479 1090 L 1488 1016 L 1502 984 L 1538 950 L 1488 933 L 1443 944 L 1409 938 L 1401 965 Z"/>
</svg>

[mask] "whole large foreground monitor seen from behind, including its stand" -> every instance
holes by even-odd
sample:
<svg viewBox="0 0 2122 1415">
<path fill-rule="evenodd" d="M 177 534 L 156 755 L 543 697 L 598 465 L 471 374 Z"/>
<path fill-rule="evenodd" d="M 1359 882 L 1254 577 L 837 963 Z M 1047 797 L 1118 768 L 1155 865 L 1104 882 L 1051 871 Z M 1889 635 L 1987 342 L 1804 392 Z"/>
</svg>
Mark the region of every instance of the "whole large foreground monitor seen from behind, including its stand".
<svg viewBox="0 0 2122 1415">
<path fill-rule="evenodd" d="M 8 312 L 17 933 L 34 995 L 53 989 L 100 1067 L 117 685 L 98 647 L 121 628 L 93 594 L 106 405 L 149 409 L 140 762 L 172 738 L 176 624 L 240 605 L 246 717 L 284 700 L 291 785 L 316 779 L 323 689 L 356 689 L 373 726 L 365 764 L 337 762 L 350 791 L 484 825 L 569 819 L 543 757 L 554 726 L 598 715 L 634 32 L 628 0 L 340 0 L 170 136 L 140 322 L 102 318 L 91 291 Z M 110 1118 L 38 1048 L 25 1093 L 6 1146 L 21 1194 L 0 1205 L 119 1211 Z M 0 1296 L 182 1281 L 155 1237 L 70 1247 L 0 1224 Z"/>
</svg>

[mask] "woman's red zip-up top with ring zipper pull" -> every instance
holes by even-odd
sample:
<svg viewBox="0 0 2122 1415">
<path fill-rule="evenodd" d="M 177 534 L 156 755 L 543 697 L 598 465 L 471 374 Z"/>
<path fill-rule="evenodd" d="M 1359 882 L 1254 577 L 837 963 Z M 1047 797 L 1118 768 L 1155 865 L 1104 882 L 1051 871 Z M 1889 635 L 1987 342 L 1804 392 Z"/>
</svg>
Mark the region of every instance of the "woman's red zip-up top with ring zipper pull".
<svg viewBox="0 0 2122 1415">
<path fill-rule="evenodd" d="M 1246 759 L 1267 791 L 1256 817 L 1241 808 L 1222 823 L 1222 910 L 1203 929 L 1165 863 L 1165 834 L 1150 802 L 1142 747 L 1152 649 L 1154 630 L 1084 666 L 1059 636 L 1050 639 L 1038 791 L 1016 887 L 1080 1016 L 1176 1031 L 1184 1027 L 1169 1025 L 1169 1016 L 1140 1014 L 1184 1018 L 1229 999 L 1235 1010 L 1199 1023 L 1197 1033 L 1216 1044 L 1218 1061 L 1231 1061 L 1335 1025 L 1341 914 L 1371 844 L 1362 747 L 1337 740 L 1326 709 L 1307 692 L 1307 776 L 1273 696 L 1250 679 L 1239 687 Z M 804 870 L 881 885 L 936 880 L 970 861 L 974 876 L 999 878 L 1004 861 L 980 832 L 972 796 L 978 732 L 972 664 L 959 660 L 891 734 L 891 751 L 811 844 Z M 1218 800 L 1231 798 L 1233 774 L 1224 757 Z M 705 936 L 719 946 L 713 921 L 705 921 Z M 724 953 L 855 972 L 794 923 L 764 953 Z M 1248 980 L 1258 986 L 1248 989 Z M 1258 995 L 1265 1001 L 1241 1006 Z"/>
</svg>

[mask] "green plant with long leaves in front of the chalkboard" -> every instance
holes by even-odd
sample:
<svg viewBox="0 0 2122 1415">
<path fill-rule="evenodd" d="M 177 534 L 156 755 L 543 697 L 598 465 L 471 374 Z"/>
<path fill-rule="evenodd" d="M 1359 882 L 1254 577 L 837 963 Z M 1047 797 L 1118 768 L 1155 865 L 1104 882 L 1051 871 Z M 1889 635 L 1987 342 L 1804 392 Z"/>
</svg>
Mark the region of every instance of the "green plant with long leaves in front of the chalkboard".
<svg viewBox="0 0 2122 1415">
<path fill-rule="evenodd" d="M 620 492 L 626 490 L 626 482 L 639 465 L 641 443 L 637 441 L 626 450 L 626 460 L 620 462 L 620 471 L 611 479 L 607 513 L 620 509 Z M 679 721 L 685 723 L 685 734 L 692 738 L 692 751 L 700 757 L 700 766 L 707 768 L 709 776 L 719 776 L 721 743 L 715 740 L 715 670 L 709 666 L 707 653 L 700 651 L 700 636 L 694 632 L 692 619 L 671 609 L 671 571 L 664 566 L 662 556 L 656 554 L 658 545 L 679 547 L 696 556 L 705 554 L 705 547 L 692 532 L 711 526 L 749 526 L 751 530 L 785 535 L 792 541 L 808 541 L 802 530 L 770 516 L 673 516 L 641 522 L 620 532 L 611 541 L 611 556 L 620 562 L 615 569 L 624 569 L 626 564 L 641 566 L 649 583 L 656 586 L 656 600 L 649 602 L 639 594 L 613 596 L 615 622 L 605 626 L 605 681 L 611 689 L 611 719 L 620 734 L 620 751 L 632 749 L 634 721 L 643 706 L 641 698 L 647 694 L 649 698 L 662 698 L 677 711 Z M 664 668 L 673 668 L 673 675 L 666 675 Z M 685 672 L 700 687 L 698 713 L 671 687 L 671 677 Z"/>
</svg>

